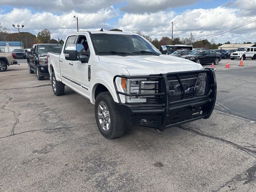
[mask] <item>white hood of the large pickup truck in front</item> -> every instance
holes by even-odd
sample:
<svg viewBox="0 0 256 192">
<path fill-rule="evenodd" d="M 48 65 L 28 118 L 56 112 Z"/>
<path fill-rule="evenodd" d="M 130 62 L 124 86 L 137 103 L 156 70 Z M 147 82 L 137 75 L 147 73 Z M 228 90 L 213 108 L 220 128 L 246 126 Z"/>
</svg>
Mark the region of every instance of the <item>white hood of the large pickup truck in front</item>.
<svg viewBox="0 0 256 192">
<path fill-rule="evenodd" d="M 136 55 L 136 56 L 99 56 L 99 60 L 125 68 L 130 75 L 162 74 L 189 70 L 200 70 L 202 65 L 175 56 Z"/>
</svg>

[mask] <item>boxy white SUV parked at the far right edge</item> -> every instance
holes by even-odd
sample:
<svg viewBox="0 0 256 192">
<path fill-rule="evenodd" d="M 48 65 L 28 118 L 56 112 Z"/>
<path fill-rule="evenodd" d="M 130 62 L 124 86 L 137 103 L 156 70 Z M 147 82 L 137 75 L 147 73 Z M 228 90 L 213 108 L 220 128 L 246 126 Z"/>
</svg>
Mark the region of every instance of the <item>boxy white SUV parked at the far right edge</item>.
<svg viewBox="0 0 256 192">
<path fill-rule="evenodd" d="M 234 60 L 235 58 L 245 60 L 246 58 L 256 59 L 256 47 L 239 47 L 236 52 L 230 54 L 230 59 Z"/>
</svg>

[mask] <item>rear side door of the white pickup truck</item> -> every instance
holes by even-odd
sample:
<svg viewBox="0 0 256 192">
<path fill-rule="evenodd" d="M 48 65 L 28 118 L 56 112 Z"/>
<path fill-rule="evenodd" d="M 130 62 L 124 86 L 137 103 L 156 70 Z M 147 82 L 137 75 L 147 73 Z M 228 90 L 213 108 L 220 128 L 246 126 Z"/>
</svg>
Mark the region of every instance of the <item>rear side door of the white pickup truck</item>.
<svg viewBox="0 0 256 192">
<path fill-rule="evenodd" d="M 73 81 L 74 78 L 74 61 L 66 60 L 65 59 L 65 48 L 68 45 L 74 45 L 76 40 L 76 35 L 69 36 L 66 40 L 66 44 L 64 47 L 64 51 L 60 54 L 60 74 L 61 80 L 64 84 L 70 86 L 71 88 L 76 89 L 76 84 Z"/>
</svg>

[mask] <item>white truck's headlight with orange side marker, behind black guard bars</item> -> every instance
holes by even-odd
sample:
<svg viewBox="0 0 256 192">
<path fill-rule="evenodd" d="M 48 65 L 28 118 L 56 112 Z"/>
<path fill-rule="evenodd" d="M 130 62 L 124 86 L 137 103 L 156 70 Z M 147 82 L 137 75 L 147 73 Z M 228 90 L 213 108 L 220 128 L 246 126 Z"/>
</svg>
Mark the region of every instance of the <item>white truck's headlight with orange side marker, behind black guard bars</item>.
<svg viewBox="0 0 256 192">
<path fill-rule="evenodd" d="M 122 88 L 127 94 L 154 94 L 158 93 L 158 81 L 150 79 L 122 78 Z M 148 98 L 155 96 L 125 96 L 126 103 L 146 103 Z"/>
</svg>

